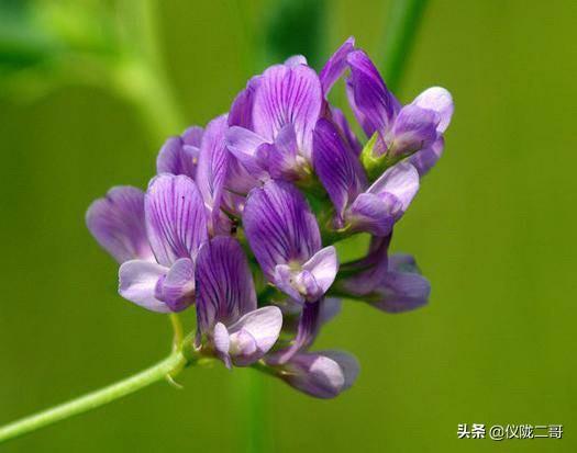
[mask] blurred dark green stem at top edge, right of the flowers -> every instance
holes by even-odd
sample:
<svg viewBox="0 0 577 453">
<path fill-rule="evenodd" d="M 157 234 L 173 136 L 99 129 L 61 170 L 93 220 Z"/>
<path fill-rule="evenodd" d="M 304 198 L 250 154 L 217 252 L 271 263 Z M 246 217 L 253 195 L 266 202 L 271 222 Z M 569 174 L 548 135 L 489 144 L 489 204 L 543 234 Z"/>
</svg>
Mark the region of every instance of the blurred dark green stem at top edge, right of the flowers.
<svg viewBox="0 0 577 453">
<path fill-rule="evenodd" d="M 401 72 L 411 53 L 426 0 L 393 0 L 385 37 L 382 70 L 391 91 L 399 88 Z"/>
</svg>

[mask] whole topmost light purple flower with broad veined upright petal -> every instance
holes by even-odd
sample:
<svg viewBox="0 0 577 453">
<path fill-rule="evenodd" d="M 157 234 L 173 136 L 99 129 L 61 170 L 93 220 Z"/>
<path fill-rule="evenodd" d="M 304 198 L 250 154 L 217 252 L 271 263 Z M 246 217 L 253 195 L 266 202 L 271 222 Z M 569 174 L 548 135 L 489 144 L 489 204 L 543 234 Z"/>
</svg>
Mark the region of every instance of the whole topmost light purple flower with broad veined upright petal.
<svg viewBox="0 0 577 453">
<path fill-rule="evenodd" d="M 292 181 L 311 172 L 312 129 L 323 93 L 319 76 L 304 63 L 295 57 L 271 66 L 231 107 L 229 150 L 257 179 Z"/>
</svg>

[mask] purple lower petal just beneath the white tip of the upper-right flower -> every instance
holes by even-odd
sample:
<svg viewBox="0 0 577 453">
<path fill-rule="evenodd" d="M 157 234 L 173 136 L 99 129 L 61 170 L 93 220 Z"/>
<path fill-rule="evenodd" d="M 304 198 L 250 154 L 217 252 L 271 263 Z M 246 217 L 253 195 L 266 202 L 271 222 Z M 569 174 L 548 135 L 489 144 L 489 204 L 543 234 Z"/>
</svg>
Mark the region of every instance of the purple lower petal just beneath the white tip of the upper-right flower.
<svg viewBox="0 0 577 453">
<path fill-rule="evenodd" d="M 392 127 L 389 149 L 395 156 L 407 156 L 433 144 L 437 137 L 439 114 L 409 104 L 401 109 Z"/>
</svg>

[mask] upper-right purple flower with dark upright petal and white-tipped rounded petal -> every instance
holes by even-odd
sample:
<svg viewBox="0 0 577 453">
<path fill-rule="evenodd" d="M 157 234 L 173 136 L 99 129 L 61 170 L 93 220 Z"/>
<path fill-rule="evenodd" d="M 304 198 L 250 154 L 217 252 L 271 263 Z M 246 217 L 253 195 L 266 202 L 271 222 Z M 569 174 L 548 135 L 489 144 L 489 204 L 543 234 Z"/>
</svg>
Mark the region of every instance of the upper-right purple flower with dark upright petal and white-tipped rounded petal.
<svg viewBox="0 0 577 453">
<path fill-rule="evenodd" d="M 453 115 L 451 93 L 444 88 L 430 88 L 401 106 L 363 50 L 351 52 L 347 61 L 347 94 L 353 112 L 368 137 L 378 134 L 374 157 L 397 161 L 413 155 L 412 163 L 424 174 L 442 152 L 443 133 Z"/>
</svg>

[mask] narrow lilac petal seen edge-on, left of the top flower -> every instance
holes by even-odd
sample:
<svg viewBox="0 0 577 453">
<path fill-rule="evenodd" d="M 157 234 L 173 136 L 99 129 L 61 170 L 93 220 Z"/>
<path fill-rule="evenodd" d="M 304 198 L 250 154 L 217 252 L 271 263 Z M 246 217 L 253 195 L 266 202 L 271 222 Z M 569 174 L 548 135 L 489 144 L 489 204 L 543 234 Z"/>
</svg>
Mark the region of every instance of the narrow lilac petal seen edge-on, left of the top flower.
<svg viewBox="0 0 577 453">
<path fill-rule="evenodd" d="M 224 140 L 228 128 L 226 115 L 221 115 L 208 124 L 198 161 L 197 185 L 211 213 L 209 227 L 213 234 L 230 231 L 229 218 L 220 211 L 231 158 Z"/>
</svg>

